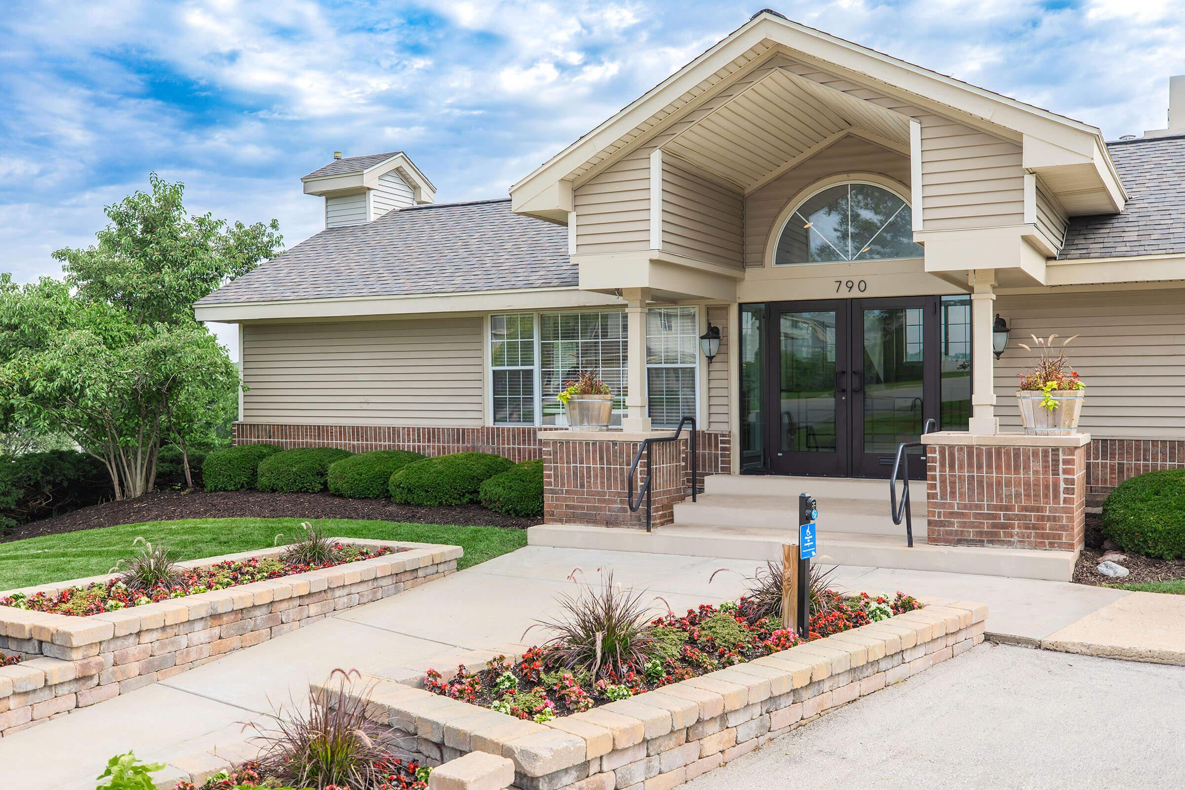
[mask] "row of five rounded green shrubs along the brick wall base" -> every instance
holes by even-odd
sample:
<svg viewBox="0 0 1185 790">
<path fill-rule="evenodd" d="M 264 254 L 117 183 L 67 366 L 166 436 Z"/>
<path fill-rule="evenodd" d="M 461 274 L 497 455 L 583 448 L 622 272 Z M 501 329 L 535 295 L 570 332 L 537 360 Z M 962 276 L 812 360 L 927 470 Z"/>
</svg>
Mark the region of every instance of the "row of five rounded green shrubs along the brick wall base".
<svg viewBox="0 0 1185 790">
<path fill-rule="evenodd" d="M 515 464 L 489 452 L 425 458 L 408 450 L 357 455 L 337 448 L 243 444 L 205 457 L 206 490 L 309 492 L 354 499 L 390 495 L 399 505 L 481 502 L 498 513 L 543 514 L 543 462 Z"/>
</svg>

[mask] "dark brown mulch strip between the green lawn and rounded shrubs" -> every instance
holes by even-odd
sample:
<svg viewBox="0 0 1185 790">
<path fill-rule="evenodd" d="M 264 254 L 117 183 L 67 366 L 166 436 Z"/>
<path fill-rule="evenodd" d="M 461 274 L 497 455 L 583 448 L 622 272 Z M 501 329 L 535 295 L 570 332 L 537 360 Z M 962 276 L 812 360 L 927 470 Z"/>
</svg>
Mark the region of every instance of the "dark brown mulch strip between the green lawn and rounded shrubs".
<svg viewBox="0 0 1185 790">
<path fill-rule="evenodd" d="M 0 535 L 0 542 L 57 535 L 78 529 L 178 519 L 367 519 L 409 524 L 508 527 L 526 529 L 542 519 L 523 519 L 480 505 L 415 507 L 389 499 L 352 500 L 332 494 L 263 492 L 153 492 L 134 500 L 101 502 L 62 515 L 24 524 Z"/>
</svg>

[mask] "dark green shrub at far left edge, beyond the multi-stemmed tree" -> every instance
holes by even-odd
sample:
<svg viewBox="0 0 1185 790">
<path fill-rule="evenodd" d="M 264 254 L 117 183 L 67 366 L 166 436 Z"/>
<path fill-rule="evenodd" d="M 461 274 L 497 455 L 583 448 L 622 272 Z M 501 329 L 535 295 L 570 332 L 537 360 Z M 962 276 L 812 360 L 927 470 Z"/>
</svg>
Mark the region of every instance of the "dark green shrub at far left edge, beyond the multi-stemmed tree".
<svg viewBox="0 0 1185 790">
<path fill-rule="evenodd" d="M 107 467 L 77 450 L 0 456 L 0 528 L 114 496 Z"/>
</svg>

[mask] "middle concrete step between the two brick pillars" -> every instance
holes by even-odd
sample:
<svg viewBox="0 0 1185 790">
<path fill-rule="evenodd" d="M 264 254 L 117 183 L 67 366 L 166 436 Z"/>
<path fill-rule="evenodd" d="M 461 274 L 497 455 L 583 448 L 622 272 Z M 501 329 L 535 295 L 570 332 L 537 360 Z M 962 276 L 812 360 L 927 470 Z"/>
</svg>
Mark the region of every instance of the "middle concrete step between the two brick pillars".
<svg viewBox="0 0 1185 790">
<path fill-rule="evenodd" d="M 709 477 L 711 480 L 711 477 Z M 729 525 L 760 529 L 789 529 L 799 524 L 799 499 L 769 494 L 700 494 L 698 501 L 686 500 L 674 506 L 679 526 Z M 905 525 L 897 526 L 889 514 L 888 492 L 878 500 L 819 500 L 820 532 L 886 535 L 905 540 Z M 925 502 L 912 501 L 914 538 L 925 539 Z"/>
</svg>

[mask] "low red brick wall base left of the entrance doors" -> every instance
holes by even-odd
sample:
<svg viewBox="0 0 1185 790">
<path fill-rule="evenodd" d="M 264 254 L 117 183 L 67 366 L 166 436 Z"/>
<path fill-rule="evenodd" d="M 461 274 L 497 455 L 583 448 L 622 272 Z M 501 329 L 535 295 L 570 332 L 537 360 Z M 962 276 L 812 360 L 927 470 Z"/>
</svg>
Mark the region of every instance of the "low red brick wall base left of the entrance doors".
<svg viewBox="0 0 1185 790">
<path fill-rule="evenodd" d="M 412 450 L 424 455 L 449 452 L 495 452 L 511 461 L 543 457 L 539 432 L 546 428 L 486 425 L 483 428 L 398 428 L 385 425 L 290 425 L 235 423 L 235 444 L 278 444 L 295 447 L 339 447 L 351 452 L 367 450 Z M 732 463 L 732 435 L 726 431 L 698 431 L 700 481 L 707 475 L 729 474 Z M 691 484 L 688 471 L 687 484 Z"/>
</svg>

